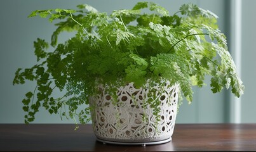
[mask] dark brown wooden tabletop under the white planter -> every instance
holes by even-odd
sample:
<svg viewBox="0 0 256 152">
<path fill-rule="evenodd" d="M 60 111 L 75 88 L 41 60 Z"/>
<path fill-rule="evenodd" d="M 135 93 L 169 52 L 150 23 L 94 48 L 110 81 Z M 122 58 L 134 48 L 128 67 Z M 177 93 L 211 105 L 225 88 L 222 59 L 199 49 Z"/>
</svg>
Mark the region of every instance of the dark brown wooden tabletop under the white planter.
<svg viewBox="0 0 256 152">
<path fill-rule="evenodd" d="M 256 124 L 177 124 L 172 141 L 119 146 L 96 141 L 91 125 L 0 124 L 0 151 L 256 151 Z"/>
</svg>

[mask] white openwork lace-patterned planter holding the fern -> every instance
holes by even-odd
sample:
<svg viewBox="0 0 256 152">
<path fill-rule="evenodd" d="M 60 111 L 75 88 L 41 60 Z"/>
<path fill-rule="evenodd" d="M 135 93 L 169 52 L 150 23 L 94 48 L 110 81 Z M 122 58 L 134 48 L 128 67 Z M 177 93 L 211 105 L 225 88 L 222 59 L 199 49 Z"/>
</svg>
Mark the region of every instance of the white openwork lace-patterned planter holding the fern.
<svg viewBox="0 0 256 152">
<path fill-rule="evenodd" d="M 149 85 L 151 84 L 151 85 Z M 115 144 L 160 144 L 171 141 L 177 114 L 179 85 L 148 82 L 145 89 L 133 83 L 117 87 L 110 96 L 100 85 L 100 94 L 90 98 L 91 120 L 98 141 Z M 147 100 L 161 105 L 159 120 Z"/>
</svg>

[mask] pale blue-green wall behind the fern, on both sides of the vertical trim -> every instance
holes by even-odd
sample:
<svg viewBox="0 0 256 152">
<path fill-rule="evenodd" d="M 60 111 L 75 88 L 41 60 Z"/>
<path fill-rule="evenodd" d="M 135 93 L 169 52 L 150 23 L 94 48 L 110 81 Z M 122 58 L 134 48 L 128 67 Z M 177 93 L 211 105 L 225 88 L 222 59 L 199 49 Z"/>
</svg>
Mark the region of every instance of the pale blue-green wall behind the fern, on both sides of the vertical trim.
<svg viewBox="0 0 256 152">
<path fill-rule="evenodd" d="M 24 111 L 21 100 L 27 91 L 35 87 L 33 82 L 25 85 L 12 85 L 17 68 L 27 68 L 36 63 L 33 41 L 41 37 L 50 41 L 55 27 L 42 18 L 27 18 L 31 11 L 50 8 L 76 8 L 77 4 L 90 4 L 98 9 L 110 13 L 113 9 L 132 8 L 138 1 L 129 0 L 1 0 L 0 1 L 0 123 L 24 123 Z M 184 3 L 198 4 L 199 7 L 209 9 L 219 16 L 219 28 L 227 35 L 229 43 L 230 22 L 232 8 L 227 0 L 154 0 L 174 13 Z M 256 1 L 242 1 L 242 80 L 245 84 L 245 94 L 241 97 L 241 122 L 256 123 L 255 78 L 256 52 L 255 28 Z M 62 34 L 60 41 L 65 41 L 71 34 Z M 234 45 L 230 44 L 229 45 Z M 232 50 L 230 50 L 232 51 Z M 206 87 L 194 88 L 194 101 L 191 105 L 183 101 L 177 115 L 177 123 L 227 123 L 232 122 L 232 98 L 229 91 L 212 94 L 210 81 Z M 36 115 L 34 123 L 74 123 L 73 120 L 60 120 L 59 115 L 50 115 L 41 110 Z"/>
</svg>

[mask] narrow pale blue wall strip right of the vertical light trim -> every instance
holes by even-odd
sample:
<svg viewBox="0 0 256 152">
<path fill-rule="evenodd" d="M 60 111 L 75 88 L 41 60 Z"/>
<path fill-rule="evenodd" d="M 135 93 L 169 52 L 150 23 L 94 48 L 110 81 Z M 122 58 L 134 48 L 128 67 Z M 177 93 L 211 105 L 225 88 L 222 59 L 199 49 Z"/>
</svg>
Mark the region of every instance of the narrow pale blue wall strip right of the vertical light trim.
<svg viewBox="0 0 256 152">
<path fill-rule="evenodd" d="M 245 94 L 241 97 L 241 122 L 256 123 L 256 1 L 242 1 L 242 70 Z"/>
</svg>

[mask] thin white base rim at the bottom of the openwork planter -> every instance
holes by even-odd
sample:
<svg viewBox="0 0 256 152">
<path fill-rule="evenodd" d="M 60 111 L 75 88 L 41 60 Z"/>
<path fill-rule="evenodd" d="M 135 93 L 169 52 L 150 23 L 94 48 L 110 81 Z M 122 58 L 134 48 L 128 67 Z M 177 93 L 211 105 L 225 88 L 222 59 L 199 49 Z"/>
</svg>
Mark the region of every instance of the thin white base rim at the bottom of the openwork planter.
<svg viewBox="0 0 256 152">
<path fill-rule="evenodd" d="M 153 145 L 153 144 L 164 144 L 172 141 L 172 137 L 165 139 L 163 141 L 151 141 L 151 142 L 137 142 L 137 143 L 129 143 L 129 142 L 117 142 L 117 141 L 106 141 L 104 139 L 99 139 L 97 138 L 97 141 L 100 141 L 103 144 L 119 144 L 119 145 L 141 145 L 141 146 L 146 146 L 146 145 Z"/>
</svg>

